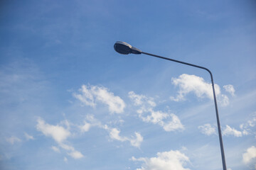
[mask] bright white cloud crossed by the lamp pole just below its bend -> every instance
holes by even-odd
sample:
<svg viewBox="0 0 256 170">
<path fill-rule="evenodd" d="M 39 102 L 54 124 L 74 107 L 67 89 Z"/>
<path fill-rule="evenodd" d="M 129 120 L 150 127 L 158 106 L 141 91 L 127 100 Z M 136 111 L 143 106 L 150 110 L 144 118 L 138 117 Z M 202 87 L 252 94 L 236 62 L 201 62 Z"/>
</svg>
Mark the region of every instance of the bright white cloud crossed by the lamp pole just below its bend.
<svg viewBox="0 0 256 170">
<path fill-rule="evenodd" d="M 181 74 L 178 78 L 172 78 L 172 84 L 178 86 L 178 95 L 171 96 L 172 101 L 184 101 L 186 94 L 193 92 L 198 98 L 213 99 L 213 88 L 211 83 L 206 83 L 202 77 L 195 75 Z M 229 85 L 231 86 L 231 85 Z M 223 106 L 229 104 L 228 96 L 220 93 L 220 86 L 214 84 L 215 94 Z"/>
</svg>

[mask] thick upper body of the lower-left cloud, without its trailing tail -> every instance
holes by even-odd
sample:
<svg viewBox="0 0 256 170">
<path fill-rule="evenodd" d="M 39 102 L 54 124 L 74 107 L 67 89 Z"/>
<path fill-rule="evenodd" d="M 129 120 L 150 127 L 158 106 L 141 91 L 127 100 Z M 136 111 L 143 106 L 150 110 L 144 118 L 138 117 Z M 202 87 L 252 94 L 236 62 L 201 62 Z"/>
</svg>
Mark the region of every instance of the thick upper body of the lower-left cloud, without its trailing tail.
<svg viewBox="0 0 256 170">
<path fill-rule="evenodd" d="M 58 143 L 63 142 L 71 135 L 68 129 L 63 128 L 60 125 L 49 125 L 41 118 L 38 118 L 36 129 L 43 132 L 43 135 L 53 137 Z"/>
</svg>

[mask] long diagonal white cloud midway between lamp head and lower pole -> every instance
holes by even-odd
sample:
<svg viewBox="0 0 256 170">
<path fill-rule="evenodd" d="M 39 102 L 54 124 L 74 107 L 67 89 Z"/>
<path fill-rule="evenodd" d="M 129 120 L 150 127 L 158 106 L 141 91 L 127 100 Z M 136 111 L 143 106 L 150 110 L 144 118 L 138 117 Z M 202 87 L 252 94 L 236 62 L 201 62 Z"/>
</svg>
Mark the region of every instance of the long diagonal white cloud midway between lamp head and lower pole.
<svg viewBox="0 0 256 170">
<path fill-rule="evenodd" d="M 135 94 L 134 91 L 129 92 L 129 98 L 134 102 L 134 106 L 139 106 L 137 113 L 146 123 L 158 124 L 166 131 L 183 130 L 178 116 L 173 113 L 164 113 L 162 111 L 154 111 L 156 103 L 154 98 L 149 98 L 144 95 Z"/>
</svg>

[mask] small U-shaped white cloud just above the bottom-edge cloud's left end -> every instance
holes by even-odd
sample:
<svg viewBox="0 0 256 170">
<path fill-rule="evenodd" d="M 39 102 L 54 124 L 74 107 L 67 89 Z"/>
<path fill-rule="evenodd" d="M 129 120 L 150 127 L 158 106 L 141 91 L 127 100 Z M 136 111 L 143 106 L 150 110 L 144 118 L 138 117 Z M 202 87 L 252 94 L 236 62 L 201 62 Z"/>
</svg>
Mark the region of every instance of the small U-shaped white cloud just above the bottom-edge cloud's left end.
<svg viewBox="0 0 256 170">
<path fill-rule="evenodd" d="M 140 147 L 140 145 L 143 142 L 143 137 L 142 137 L 142 135 L 139 134 L 139 132 L 135 132 L 136 137 L 130 137 L 130 138 L 122 137 L 119 135 L 119 133 L 120 133 L 120 130 L 117 130 L 117 128 L 110 129 L 110 137 L 113 140 L 119 140 L 121 142 L 129 141 L 131 143 L 131 145 L 134 147 Z"/>
</svg>

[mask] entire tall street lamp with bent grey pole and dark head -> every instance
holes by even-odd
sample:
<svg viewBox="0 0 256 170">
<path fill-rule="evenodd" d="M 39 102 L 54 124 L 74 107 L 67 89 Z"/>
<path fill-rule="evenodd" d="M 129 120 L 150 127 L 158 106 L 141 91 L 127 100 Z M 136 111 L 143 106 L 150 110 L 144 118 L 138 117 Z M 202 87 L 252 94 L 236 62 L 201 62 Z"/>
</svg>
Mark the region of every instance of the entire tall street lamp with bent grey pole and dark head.
<svg viewBox="0 0 256 170">
<path fill-rule="evenodd" d="M 149 54 L 147 52 L 142 52 L 142 50 L 137 49 L 136 47 L 132 47 L 132 45 L 129 45 L 127 42 L 122 42 L 122 41 L 117 41 L 114 44 L 114 50 L 116 50 L 117 52 L 119 52 L 122 55 L 129 55 L 130 53 L 135 54 L 135 55 L 140 55 L 140 54 L 144 54 L 144 55 L 151 55 L 153 57 L 158 57 L 164 60 L 169 60 L 172 62 L 178 62 L 181 64 L 186 64 L 192 67 L 197 67 L 199 69 L 205 69 L 208 73 L 210 73 L 210 79 L 211 79 L 211 83 L 213 86 L 213 98 L 214 98 L 214 104 L 215 104 L 215 112 L 216 112 L 216 118 L 217 118 L 217 125 L 218 125 L 218 135 L 219 135 L 219 139 L 220 139 L 220 151 L 221 151 L 221 157 L 222 157 L 222 162 L 223 162 L 223 170 L 227 170 L 226 164 L 225 164 L 225 154 L 224 154 L 224 147 L 223 147 L 223 140 L 222 140 L 222 135 L 221 135 L 221 130 L 220 130 L 220 119 L 218 116 L 218 106 L 217 106 L 217 100 L 216 100 L 216 96 L 215 96 L 215 89 L 214 89 L 214 83 L 213 83 L 213 74 L 210 72 L 209 69 L 207 69 L 206 67 L 201 67 L 195 64 L 190 64 L 187 62 L 181 62 L 178 60 L 174 60 L 174 59 L 170 59 L 170 58 L 166 58 L 166 57 L 161 57 L 159 55 L 152 55 Z"/>
</svg>

